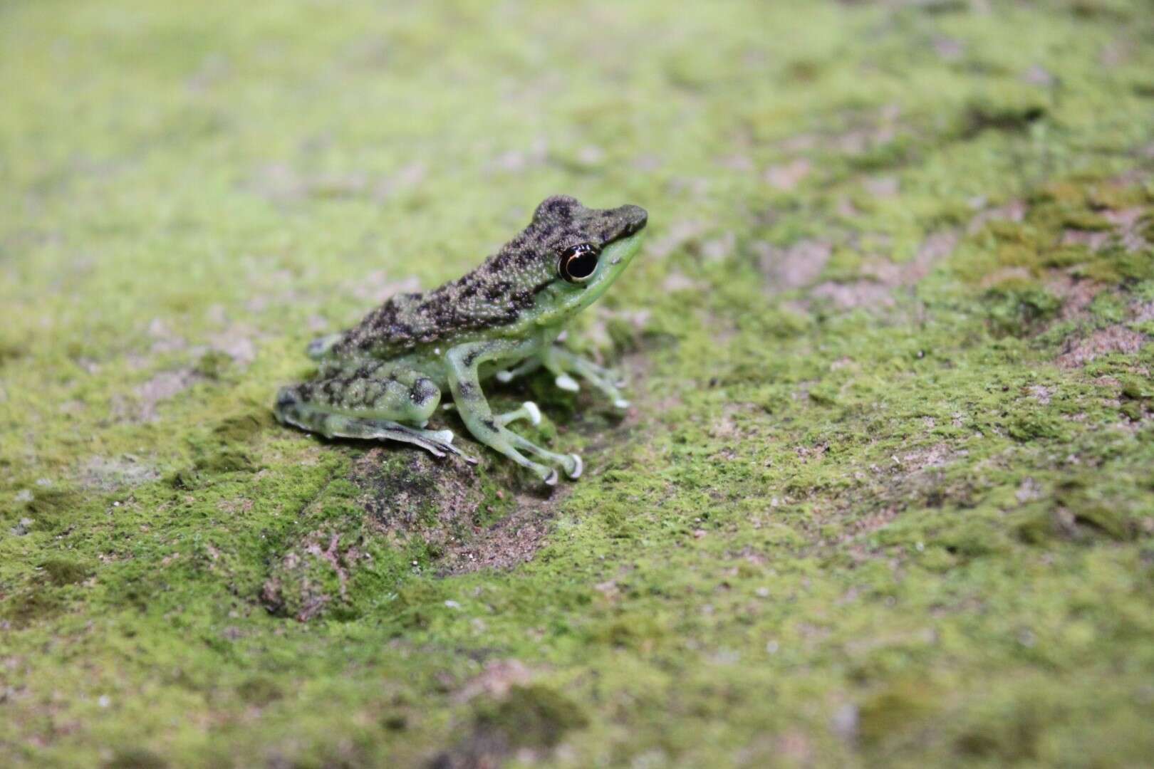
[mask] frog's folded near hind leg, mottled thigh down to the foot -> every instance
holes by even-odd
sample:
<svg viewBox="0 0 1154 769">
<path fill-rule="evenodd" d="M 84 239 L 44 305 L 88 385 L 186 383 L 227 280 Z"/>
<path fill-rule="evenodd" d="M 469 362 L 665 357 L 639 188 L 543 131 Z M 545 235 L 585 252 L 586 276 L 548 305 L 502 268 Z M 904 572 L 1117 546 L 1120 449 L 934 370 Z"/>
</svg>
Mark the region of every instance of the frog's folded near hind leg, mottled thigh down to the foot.
<svg viewBox="0 0 1154 769">
<path fill-rule="evenodd" d="M 435 457 L 464 457 L 452 446 L 451 430 L 422 429 L 441 400 L 427 377 L 375 362 L 323 372 L 330 376 L 280 389 L 280 422 L 327 438 L 400 440 Z"/>
</svg>

